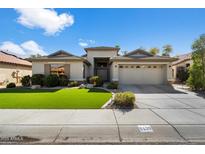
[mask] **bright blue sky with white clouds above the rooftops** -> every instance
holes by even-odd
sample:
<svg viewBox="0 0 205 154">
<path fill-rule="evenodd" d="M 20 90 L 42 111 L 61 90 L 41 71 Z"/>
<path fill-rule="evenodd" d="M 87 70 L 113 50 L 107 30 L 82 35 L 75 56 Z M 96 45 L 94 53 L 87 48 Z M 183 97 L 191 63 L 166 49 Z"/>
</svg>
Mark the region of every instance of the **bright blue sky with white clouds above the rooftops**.
<svg viewBox="0 0 205 154">
<path fill-rule="evenodd" d="M 82 55 L 89 46 L 120 45 L 122 51 L 132 51 L 171 44 L 173 55 L 179 55 L 190 52 L 192 42 L 205 33 L 205 9 L 48 11 L 0 9 L 0 48 L 26 52 L 24 56 L 60 49 Z"/>
</svg>

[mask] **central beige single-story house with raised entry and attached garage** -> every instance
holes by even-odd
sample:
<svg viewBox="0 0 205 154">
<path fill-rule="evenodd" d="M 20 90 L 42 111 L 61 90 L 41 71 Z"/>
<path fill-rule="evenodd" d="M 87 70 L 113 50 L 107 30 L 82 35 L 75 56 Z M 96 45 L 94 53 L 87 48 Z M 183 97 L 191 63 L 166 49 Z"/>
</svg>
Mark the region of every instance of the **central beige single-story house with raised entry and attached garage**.
<svg viewBox="0 0 205 154">
<path fill-rule="evenodd" d="M 31 59 L 32 74 L 65 74 L 78 81 L 98 75 L 104 81 L 121 84 L 165 84 L 172 80 L 171 63 L 176 58 L 153 56 L 141 49 L 120 56 L 119 50 L 90 47 L 85 48 L 86 54 L 81 57 L 60 50 Z"/>
</svg>

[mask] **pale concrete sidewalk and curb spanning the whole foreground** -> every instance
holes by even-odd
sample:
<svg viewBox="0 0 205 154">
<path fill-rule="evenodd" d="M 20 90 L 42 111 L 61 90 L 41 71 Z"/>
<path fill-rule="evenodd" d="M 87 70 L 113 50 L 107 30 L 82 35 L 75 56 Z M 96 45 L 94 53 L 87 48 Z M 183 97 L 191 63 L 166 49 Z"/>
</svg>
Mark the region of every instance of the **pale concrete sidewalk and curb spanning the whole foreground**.
<svg viewBox="0 0 205 154">
<path fill-rule="evenodd" d="M 140 129 L 149 125 L 149 132 Z M 204 144 L 205 109 L 0 110 L 1 144 Z"/>
</svg>

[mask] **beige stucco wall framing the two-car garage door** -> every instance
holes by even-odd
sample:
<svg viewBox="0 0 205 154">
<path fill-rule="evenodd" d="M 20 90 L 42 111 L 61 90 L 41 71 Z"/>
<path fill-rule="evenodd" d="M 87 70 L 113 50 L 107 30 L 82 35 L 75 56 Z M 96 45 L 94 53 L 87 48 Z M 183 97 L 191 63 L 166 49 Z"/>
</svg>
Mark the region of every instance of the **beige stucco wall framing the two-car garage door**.
<svg viewBox="0 0 205 154">
<path fill-rule="evenodd" d="M 171 75 L 171 63 L 169 62 L 113 62 L 111 65 L 111 80 L 112 81 L 119 81 L 119 65 L 122 64 L 150 64 L 150 65 L 163 65 L 164 77 L 163 80 L 166 83 L 167 81 L 173 80 Z M 129 75 L 129 74 L 128 74 Z"/>
</svg>

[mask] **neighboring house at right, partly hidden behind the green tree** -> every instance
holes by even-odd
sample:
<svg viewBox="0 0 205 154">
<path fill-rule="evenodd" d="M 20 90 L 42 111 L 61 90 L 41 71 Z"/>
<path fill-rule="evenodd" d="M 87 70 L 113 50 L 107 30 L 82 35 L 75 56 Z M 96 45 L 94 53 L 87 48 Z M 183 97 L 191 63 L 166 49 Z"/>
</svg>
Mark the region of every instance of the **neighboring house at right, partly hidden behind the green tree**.
<svg viewBox="0 0 205 154">
<path fill-rule="evenodd" d="M 180 70 L 187 70 L 193 61 L 191 59 L 191 53 L 177 56 L 178 60 L 172 63 L 172 76 L 174 81 L 178 81 L 177 72 Z"/>
</svg>

